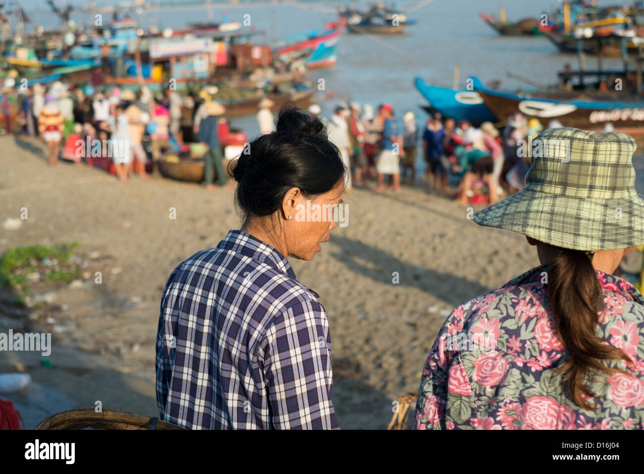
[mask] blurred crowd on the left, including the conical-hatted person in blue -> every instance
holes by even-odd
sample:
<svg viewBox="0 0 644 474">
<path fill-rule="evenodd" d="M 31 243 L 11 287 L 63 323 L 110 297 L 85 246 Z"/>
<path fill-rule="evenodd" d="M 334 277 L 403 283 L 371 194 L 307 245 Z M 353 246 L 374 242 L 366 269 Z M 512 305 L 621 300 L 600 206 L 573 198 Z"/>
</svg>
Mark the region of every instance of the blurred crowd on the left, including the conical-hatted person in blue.
<svg viewBox="0 0 644 474">
<path fill-rule="evenodd" d="M 145 85 L 135 93 L 128 88 L 56 81 L 47 88 L 33 84 L 24 91 L 19 87 L 15 92 L 4 91 L 0 105 L 6 132 L 42 139 L 50 165 L 57 164 L 59 158 L 90 166 L 108 159 L 113 161 L 118 179 L 126 181 L 135 172 L 147 177 L 151 164 L 164 153 L 189 148 L 184 143 L 182 104 L 192 101 L 189 138 L 206 150 L 205 182 L 207 188 L 213 188 L 213 168 L 219 184 L 229 186 L 222 165 L 222 142 L 230 130 L 221 118 L 225 109 L 213 101 L 216 92 L 210 86 L 182 97 L 172 88 L 155 95 Z M 17 114 L 12 114 L 10 98 L 17 102 Z M 212 115 L 216 116 L 214 127 L 209 120 Z M 14 129 L 15 124 L 19 130 Z"/>
</svg>

